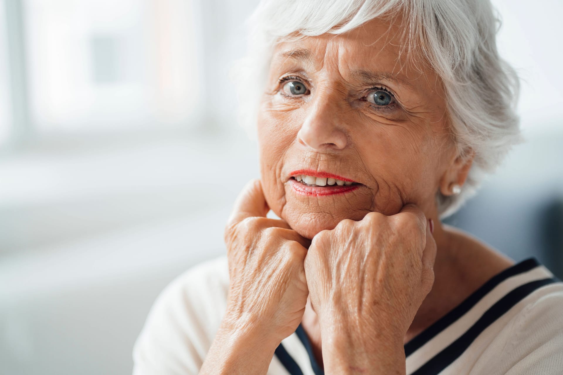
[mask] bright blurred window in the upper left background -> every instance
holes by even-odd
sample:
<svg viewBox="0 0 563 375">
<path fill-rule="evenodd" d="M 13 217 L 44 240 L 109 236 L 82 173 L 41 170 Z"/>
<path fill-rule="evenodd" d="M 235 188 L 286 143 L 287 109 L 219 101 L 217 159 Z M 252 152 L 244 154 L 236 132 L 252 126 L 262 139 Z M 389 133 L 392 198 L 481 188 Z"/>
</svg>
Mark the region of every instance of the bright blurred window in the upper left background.
<svg viewBox="0 0 563 375">
<path fill-rule="evenodd" d="M 25 0 L 29 111 L 40 133 L 182 123 L 198 109 L 193 2 Z"/>
</svg>

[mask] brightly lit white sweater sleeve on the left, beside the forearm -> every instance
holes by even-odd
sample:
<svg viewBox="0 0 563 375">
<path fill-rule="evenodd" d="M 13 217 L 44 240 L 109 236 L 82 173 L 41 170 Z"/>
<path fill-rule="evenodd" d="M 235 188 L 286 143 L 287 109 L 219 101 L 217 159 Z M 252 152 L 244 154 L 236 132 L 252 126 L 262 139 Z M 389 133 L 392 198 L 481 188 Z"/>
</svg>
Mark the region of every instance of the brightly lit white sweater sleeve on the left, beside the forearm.
<svg viewBox="0 0 563 375">
<path fill-rule="evenodd" d="M 227 290 L 226 257 L 187 270 L 170 283 L 135 342 L 133 375 L 197 374 L 220 326 Z"/>
</svg>

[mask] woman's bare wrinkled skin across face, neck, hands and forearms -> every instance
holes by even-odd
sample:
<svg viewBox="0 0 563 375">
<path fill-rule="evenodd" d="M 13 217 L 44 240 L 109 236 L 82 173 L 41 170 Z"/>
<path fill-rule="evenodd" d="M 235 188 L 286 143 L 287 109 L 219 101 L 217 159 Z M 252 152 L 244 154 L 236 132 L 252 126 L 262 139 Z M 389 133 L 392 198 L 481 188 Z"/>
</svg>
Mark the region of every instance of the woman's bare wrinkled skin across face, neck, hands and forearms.
<svg viewBox="0 0 563 375">
<path fill-rule="evenodd" d="M 472 157 L 458 155 L 439 76 L 401 53 L 400 31 L 375 19 L 276 44 L 258 113 L 261 180 L 225 230 L 229 301 L 201 373 L 265 373 L 300 322 L 327 374 L 405 373 L 404 342 L 510 265 L 437 219 L 436 193 L 462 186 Z M 376 104 L 374 90 L 394 100 Z M 361 185 L 298 194 L 301 169 Z"/>
</svg>

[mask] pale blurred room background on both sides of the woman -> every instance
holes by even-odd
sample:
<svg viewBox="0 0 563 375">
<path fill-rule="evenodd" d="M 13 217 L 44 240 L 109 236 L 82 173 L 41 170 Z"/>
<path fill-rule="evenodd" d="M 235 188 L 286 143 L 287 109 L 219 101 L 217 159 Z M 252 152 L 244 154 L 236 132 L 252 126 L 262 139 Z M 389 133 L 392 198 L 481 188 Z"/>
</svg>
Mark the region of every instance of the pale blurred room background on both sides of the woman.
<svg viewBox="0 0 563 375">
<path fill-rule="evenodd" d="M 561 278 L 563 3 L 493 3 L 527 141 L 446 222 Z M 131 373 L 159 291 L 224 254 L 258 177 L 227 79 L 256 4 L 0 0 L 0 373 Z"/>
</svg>

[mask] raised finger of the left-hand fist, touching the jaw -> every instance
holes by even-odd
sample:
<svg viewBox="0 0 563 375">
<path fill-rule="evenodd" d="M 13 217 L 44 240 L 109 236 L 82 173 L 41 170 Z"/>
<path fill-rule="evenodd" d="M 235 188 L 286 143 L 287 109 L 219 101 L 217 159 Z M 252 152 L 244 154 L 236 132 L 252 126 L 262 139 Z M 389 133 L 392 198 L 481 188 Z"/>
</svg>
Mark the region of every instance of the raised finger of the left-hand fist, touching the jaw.
<svg viewBox="0 0 563 375">
<path fill-rule="evenodd" d="M 266 217 L 268 211 L 270 211 L 270 207 L 266 203 L 262 183 L 260 179 L 255 178 L 250 180 L 236 197 L 229 223 L 239 223 L 253 216 Z"/>
</svg>

